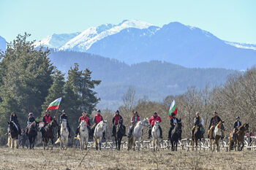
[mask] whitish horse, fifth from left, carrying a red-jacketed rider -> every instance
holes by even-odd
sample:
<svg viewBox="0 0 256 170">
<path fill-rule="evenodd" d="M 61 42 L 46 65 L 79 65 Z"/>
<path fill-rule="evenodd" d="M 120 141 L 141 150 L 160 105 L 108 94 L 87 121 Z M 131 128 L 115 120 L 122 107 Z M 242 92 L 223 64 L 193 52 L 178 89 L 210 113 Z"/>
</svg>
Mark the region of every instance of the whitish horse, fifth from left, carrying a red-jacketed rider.
<svg viewBox="0 0 256 170">
<path fill-rule="evenodd" d="M 80 122 L 80 128 L 79 128 L 79 134 L 75 138 L 80 141 L 80 149 L 84 149 L 84 143 L 86 144 L 86 150 L 87 150 L 87 145 L 88 145 L 88 140 L 89 140 L 89 132 L 87 129 L 86 121 L 82 120 Z"/>
</svg>

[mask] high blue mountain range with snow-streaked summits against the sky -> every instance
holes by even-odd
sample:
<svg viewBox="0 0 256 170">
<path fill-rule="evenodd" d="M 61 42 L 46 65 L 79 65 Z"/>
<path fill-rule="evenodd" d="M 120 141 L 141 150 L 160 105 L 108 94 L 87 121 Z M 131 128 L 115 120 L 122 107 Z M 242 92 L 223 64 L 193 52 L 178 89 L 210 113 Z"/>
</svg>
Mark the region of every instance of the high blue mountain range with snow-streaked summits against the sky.
<svg viewBox="0 0 256 170">
<path fill-rule="evenodd" d="M 244 70 L 256 63 L 256 45 L 227 42 L 178 22 L 159 27 L 124 20 L 74 34 L 53 34 L 35 45 L 93 53 L 128 64 L 157 60 L 189 68 Z"/>
</svg>

